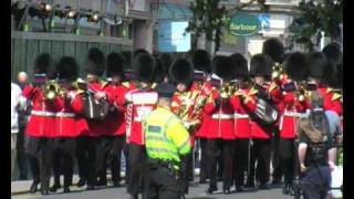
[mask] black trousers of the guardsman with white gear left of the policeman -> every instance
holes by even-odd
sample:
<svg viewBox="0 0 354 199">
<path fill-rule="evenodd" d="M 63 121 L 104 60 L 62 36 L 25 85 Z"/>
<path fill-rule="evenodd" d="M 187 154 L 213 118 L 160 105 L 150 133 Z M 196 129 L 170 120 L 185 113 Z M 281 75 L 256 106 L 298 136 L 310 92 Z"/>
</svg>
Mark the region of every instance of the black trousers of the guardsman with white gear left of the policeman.
<svg viewBox="0 0 354 199">
<path fill-rule="evenodd" d="M 143 188 L 143 169 L 145 161 L 145 147 L 134 143 L 128 144 L 128 186 L 127 192 L 138 195 Z"/>
</svg>

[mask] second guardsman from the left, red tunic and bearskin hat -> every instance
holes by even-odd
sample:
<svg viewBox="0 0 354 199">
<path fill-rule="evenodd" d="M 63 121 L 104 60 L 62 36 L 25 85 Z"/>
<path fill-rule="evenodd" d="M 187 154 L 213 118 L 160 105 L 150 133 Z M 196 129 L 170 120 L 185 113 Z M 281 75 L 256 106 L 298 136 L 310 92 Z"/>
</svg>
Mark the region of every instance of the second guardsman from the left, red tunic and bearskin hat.
<svg viewBox="0 0 354 199">
<path fill-rule="evenodd" d="M 72 83 L 77 78 L 79 66 L 71 56 L 63 56 L 56 65 L 60 81 L 60 93 L 54 98 L 58 108 L 55 114 L 55 138 L 53 150 L 54 185 L 51 191 L 56 191 L 60 175 L 64 175 L 64 192 L 70 192 L 72 185 L 75 144 L 77 137 L 76 114 L 82 112 L 82 98 Z"/>
</svg>

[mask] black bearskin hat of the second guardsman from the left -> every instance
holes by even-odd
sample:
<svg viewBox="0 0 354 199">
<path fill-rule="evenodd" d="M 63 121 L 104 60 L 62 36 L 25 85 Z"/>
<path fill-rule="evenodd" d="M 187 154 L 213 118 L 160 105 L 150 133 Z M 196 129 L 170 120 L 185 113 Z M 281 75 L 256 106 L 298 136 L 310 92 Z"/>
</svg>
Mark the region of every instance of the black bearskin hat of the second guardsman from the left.
<svg viewBox="0 0 354 199">
<path fill-rule="evenodd" d="M 74 57 L 63 56 L 56 65 L 58 77 L 66 81 L 75 81 L 79 76 L 79 65 Z"/>
</svg>

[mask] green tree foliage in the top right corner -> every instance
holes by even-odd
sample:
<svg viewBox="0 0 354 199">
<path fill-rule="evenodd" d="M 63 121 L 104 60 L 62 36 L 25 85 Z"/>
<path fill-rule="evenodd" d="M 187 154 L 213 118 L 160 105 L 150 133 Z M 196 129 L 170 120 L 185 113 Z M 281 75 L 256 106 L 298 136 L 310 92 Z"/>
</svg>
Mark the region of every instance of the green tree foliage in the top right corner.
<svg viewBox="0 0 354 199">
<path fill-rule="evenodd" d="M 308 50 L 312 52 L 322 38 L 321 31 L 324 32 L 324 36 L 330 38 L 337 38 L 341 34 L 343 0 L 302 1 L 299 9 L 300 17 L 294 19 L 289 27 L 289 31 L 293 33 L 292 44 L 305 44 Z M 311 40 L 313 36 L 316 36 L 316 42 Z"/>
</svg>

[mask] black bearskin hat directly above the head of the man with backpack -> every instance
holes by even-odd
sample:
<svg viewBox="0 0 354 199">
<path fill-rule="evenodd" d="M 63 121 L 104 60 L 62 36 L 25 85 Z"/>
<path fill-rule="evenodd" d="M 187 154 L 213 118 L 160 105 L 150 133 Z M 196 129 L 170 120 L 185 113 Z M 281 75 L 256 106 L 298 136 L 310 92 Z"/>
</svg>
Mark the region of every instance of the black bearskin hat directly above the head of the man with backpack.
<svg viewBox="0 0 354 199">
<path fill-rule="evenodd" d="M 321 52 L 313 52 L 309 55 L 309 76 L 322 78 L 326 69 L 331 67 L 325 55 Z"/>
</svg>

